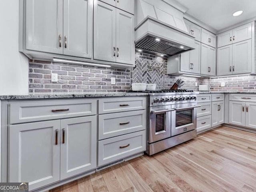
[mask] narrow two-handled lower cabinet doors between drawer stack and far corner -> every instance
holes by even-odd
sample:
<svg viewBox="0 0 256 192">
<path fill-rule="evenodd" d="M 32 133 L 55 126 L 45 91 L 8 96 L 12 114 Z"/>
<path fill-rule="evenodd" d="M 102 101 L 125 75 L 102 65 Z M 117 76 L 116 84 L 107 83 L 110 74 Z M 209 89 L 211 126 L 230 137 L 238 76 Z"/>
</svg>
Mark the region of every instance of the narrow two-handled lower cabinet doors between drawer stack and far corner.
<svg viewBox="0 0 256 192">
<path fill-rule="evenodd" d="M 212 102 L 212 127 L 224 123 L 224 101 Z"/>
</svg>

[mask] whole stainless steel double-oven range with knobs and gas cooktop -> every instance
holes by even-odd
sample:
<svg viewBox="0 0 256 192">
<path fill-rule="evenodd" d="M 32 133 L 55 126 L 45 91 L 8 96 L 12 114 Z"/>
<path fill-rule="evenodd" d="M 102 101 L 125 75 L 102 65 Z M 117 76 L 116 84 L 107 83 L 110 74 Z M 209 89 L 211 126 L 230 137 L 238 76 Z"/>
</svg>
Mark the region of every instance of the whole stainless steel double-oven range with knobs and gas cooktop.
<svg viewBox="0 0 256 192">
<path fill-rule="evenodd" d="M 196 92 L 149 92 L 146 153 L 155 154 L 196 137 Z"/>
</svg>

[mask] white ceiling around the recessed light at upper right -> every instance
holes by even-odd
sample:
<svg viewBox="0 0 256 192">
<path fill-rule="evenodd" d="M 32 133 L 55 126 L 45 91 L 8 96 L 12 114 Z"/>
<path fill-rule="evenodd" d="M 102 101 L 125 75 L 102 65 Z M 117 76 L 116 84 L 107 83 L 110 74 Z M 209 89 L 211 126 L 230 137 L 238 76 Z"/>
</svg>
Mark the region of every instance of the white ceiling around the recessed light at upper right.
<svg viewBox="0 0 256 192">
<path fill-rule="evenodd" d="M 256 0 L 177 0 L 188 8 L 187 14 L 218 30 L 256 17 Z M 232 16 L 243 10 L 238 17 Z"/>
</svg>

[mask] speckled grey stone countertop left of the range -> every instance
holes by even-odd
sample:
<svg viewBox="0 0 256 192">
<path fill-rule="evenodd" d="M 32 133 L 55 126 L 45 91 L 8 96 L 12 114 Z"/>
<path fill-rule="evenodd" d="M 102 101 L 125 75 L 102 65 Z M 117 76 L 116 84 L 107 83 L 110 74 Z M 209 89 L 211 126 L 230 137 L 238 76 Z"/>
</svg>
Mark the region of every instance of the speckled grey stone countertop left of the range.
<svg viewBox="0 0 256 192">
<path fill-rule="evenodd" d="M 55 99 L 55 98 L 92 98 L 92 97 L 119 97 L 119 96 L 147 96 L 148 93 L 67 93 L 67 94 L 30 94 L 30 95 L 0 95 L 0 100 L 10 99 Z"/>
</svg>

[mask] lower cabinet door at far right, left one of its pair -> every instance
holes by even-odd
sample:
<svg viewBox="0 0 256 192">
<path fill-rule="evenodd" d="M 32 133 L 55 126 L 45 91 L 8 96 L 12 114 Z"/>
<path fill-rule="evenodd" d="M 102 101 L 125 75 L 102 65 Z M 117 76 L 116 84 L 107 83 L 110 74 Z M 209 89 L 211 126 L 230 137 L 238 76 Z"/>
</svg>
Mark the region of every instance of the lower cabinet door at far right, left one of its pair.
<svg viewBox="0 0 256 192">
<path fill-rule="evenodd" d="M 245 102 L 229 102 L 229 123 L 245 126 Z"/>
</svg>

